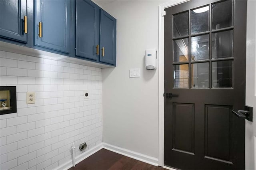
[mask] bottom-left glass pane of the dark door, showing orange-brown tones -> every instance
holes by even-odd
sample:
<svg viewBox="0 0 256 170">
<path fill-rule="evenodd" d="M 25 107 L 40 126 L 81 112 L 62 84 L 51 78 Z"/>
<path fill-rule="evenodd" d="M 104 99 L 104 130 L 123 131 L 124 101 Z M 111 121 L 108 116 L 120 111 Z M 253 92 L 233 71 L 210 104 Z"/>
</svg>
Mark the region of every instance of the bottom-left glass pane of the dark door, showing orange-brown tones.
<svg viewBox="0 0 256 170">
<path fill-rule="evenodd" d="M 188 64 L 174 65 L 174 88 L 188 88 Z"/>
</svg>

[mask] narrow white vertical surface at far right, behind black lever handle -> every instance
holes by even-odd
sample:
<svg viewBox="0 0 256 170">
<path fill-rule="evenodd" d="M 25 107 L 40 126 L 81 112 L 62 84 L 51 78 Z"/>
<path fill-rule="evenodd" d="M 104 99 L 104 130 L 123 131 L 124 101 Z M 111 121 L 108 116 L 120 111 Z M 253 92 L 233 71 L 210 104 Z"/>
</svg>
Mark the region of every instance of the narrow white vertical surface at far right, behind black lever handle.
<svg viewBox="0 0 256 170">
<path fill-rule="evenodd" d="M 256 168 L 256 1 L 247 2 L 246 105 L 253 107 L 253 122 L 246 120 L 246 170 Z M 255 135 L 255 136 L 254 136 Z M 255 144 L 254 144 L 255 143 Z"/>
</svg>

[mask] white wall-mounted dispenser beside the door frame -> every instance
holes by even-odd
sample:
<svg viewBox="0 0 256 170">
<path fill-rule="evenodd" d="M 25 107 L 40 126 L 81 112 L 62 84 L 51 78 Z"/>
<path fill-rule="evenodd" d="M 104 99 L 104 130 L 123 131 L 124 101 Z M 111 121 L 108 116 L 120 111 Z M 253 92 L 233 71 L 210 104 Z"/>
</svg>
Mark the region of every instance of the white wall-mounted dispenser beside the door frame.
<svg viewBox="0 0 256 170">
<path fill-rule="evenodd" d="M 145 65 L 147 70 L 155 70 L 157 68 L 156 49 L 147 49 L 145 54 Z"/>
</svg>

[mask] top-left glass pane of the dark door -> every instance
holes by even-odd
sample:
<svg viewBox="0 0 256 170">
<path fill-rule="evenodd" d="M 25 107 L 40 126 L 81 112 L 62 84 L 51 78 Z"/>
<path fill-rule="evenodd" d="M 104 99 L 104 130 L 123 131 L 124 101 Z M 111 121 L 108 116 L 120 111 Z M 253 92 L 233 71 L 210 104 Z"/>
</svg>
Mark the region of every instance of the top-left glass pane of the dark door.
<svg viewBox="0 0 256 170">
<path fill-rule="evenodd" d="M 188 35 L 188 12 L 173 16 L 173 37 Z"/>
</svg>

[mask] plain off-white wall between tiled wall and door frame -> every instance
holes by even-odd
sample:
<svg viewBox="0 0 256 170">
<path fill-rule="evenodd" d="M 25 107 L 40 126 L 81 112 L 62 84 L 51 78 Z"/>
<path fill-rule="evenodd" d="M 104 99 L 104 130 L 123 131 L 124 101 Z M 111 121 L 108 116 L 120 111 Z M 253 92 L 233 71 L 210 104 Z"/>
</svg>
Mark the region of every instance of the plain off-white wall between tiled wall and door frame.
<svg viewBox="0 0 256 170">
<path fill-rule="evenodd" d="M 117 20 L 117 67 L 102 69 L 103 142 L 158 158 L 158 69 L 146 70 L 145 49 L 158 49 L 158 5 L 102 4 Z M 130 68 L 141 76 L 129 78 Z"/>
</svg>

